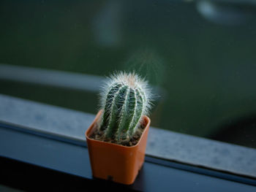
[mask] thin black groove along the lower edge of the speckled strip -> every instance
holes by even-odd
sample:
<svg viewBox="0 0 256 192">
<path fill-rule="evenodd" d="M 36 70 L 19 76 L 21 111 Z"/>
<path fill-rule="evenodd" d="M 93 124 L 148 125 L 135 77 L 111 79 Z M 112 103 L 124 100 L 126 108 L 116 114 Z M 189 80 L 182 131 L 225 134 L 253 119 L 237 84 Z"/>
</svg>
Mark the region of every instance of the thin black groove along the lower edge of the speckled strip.
<svg viewBox="0 0 256 192">
<path fill-rule="evenodd" d="M 66 142 L 71 145 L 87 147 L 86 141 L 81 140 L 81 139 L 75 139 L 72 137 L 65 137 L 61 134 L 52 134 L 47 131 L 37 131 L 35 129 L 33 130 L 30 128 L 23 128 L 23 127 L 19 127 L 17 125 L 12 125 L 10 123 L 4 123 L 4 122 L 0 122 L 0 128 L 6 128 L 6 129 L 13 130 L 13 131 L 22 132 L 25 134 L 30 134 L 30 135 L 32 135 L 32 137 L 33 136 L 34 137 L 45 137 L 48 139 L 54 139 L 59 142 Z M 1 158 L 3 158 L 3 161 L 7 161 L 7 159 L 10 159 L 10 161 L 13 161 L 13 163 L 15 163 L 17 161 L 15 159 L 4 157 L 4 156 L 2 156 Z M 181 170 L 188 171 L 188 172 L 195 172 L 197 174 L 204 174 L 207 176 L 217 177 L 217 178 L 221 178 L 224 180 L 235 181 L 238 183 L 244 183 L 244 184 L 248 184 L 248 185 L 256 185 L 255 177 L 249 177 L 249 176 L 241 175 L 241 174 L 233 174 L 232 172 L 211 169 L 206 166 L 195 166 L 192 164 L 182 163 L 181 161 L 174 161 L 171 159 L 160 158 L 160 157 L 157 157 L 154 155 L 148 155 L 148 154 L 146 154 L 145 161 L 148 163 L 151 163 L 151 164 L 158 164 L 161 166 L 172 167 L 175 169 L 181 169 Z M 16 163 L 22 164 L 22 162 L 16 162 Z M 28 166 L 28 165 L 26 165 L 26 163 L 24 163 L 24 165 Z"/>
</svg>

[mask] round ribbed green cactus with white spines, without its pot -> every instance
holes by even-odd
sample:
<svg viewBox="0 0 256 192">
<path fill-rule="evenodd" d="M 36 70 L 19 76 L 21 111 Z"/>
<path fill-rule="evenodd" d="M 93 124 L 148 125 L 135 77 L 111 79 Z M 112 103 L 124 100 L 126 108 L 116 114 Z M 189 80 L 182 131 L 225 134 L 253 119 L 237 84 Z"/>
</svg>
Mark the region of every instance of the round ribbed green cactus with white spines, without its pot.
<svg viewBox="0 0 256 192">
<path fill-rule="evenodd" d="M 135 72 L 110 76 L 101 93 L 103 114 L 99 130 L 105 139 L 117 143 L 131 139 L 151 107 L 150 100 L 147 82 Z"/>
</svg>

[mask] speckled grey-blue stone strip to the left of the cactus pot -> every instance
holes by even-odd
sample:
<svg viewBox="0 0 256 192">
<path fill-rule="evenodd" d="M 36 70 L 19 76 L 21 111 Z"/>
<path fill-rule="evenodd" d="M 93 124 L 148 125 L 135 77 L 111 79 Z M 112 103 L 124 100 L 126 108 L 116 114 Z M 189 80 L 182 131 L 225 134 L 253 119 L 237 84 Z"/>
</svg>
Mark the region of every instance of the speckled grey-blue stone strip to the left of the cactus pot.
<svg viewBox="0 0 256 192">
<path fill-rule="evenodd" d="M 94 120 L 94 115 L 0 94 L 0 120 L 53 134 L 85 139 L 85 131 Z"/>
</svg>

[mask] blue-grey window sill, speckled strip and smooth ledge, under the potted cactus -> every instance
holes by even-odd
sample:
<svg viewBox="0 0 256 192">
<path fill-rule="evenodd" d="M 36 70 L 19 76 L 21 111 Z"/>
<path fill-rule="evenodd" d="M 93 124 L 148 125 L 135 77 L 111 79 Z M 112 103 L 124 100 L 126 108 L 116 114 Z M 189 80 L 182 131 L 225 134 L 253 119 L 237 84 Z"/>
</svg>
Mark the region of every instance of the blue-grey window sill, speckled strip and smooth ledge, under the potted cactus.
<svg viewBox="0 0 256 192">
<path fill-rule="evenodd" d="M 4 95 L 0 95 L 0 106 L 2 157 L 94 180 L 84 137 L 94 115 Z M 218 185 L 222 191 L 231 185 L 228 180 L 234 180 L 240 183 L 231 182 L 232 186 L 239 185 L 236 190 L 241 190 L 241 186 L 252 187 L 241 183 L 256 185 L 255 164 L 252 148 L 150 128 L 146 163 L 132 189 L 153 191 L 162 183 L 166 190 L 170 182 L 178 189 L 184 185 L 179 178 L 198 190 L 223 183 Z"/>
</svg>

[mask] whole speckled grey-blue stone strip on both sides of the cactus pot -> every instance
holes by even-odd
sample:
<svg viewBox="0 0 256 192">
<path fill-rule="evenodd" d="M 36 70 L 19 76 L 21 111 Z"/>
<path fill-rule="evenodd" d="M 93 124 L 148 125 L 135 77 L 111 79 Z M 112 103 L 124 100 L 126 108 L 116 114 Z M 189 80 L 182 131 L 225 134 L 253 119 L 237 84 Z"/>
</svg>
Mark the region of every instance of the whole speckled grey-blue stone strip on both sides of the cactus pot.
<svg viewBox="0 0 256 192">
<path fill-rule="evenodd" d="M 85 140 L 95 115 L 0 94 L 0 121 Z M 256 177 L 256 150 L 150 128 L 146 153 Z"/>
</svg>

